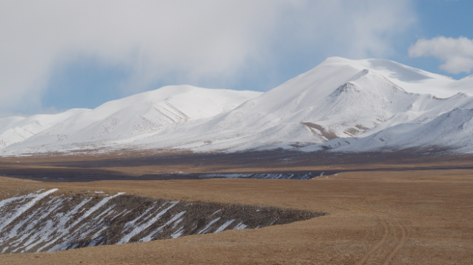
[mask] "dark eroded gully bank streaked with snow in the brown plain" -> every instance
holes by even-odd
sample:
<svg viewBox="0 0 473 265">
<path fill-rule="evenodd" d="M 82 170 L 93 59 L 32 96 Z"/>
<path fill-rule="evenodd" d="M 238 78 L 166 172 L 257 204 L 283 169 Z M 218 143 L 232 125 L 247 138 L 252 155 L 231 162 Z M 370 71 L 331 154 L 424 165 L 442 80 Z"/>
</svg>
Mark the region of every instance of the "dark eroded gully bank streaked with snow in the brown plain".
<svg viewBox="0 0 473 265">
<path fill-rule="evenodd" d="M 58 195 L 58 192 L 45 195 L 44 192 L 0 201 L 0 253 L 147 242 L 263 228 L 326 215 L 290 208 L 171 202 L 135 195 Z"/>
</svg>

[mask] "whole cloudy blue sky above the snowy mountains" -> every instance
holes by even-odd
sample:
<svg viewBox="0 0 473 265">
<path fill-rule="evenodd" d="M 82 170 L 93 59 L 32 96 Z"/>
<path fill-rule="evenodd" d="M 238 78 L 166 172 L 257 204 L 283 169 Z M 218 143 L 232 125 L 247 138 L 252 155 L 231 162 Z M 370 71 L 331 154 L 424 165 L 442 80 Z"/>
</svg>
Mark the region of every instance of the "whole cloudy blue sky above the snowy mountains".
<svg viewBox="0 0 473 265">
<path fill-rule="evenodd" d="M 450 50 L 473 39 L 472 10 L 470 0 L 1 3 L 0 116 L 95 108 L 167 85 L 266 91 L 333 56 L 461 79 L 468 62 L 452 64 L 470 55 Z M 434 51 L 449 41 L 439 37 L 452 45 Z"/>
</svg>

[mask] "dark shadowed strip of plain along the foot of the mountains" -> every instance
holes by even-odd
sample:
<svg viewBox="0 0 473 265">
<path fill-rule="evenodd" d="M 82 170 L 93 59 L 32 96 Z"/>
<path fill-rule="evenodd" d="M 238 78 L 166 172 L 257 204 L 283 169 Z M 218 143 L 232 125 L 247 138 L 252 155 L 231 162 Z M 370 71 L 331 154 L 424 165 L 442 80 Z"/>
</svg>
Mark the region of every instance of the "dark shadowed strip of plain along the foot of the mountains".
<svg viewBox="0 0 473 265">
<path fill-rule="evenodd" d="M 89 182 L 99 180 L 202 179 L 209 175 L 249 178 L 284 175 L 283 179 L 307 179 L 344 172 L 472 169 L 471 155 L 447 155 L 445 150 L 404 150 L 396 153 L 304 153 L 288 150 L 243 153 L 154 154 L 118 153 L 101 157 L 31 156 L 0 157 L 0 176 L 45 182 Z M 443 161 L 443 164 L 438 164 Z M 446 166 L 452 161 L 455 165 Z M 382 167 L 371 168 L 372 164 Z M 461 163 L 463 165 L 460 165 Z M 418 166 L 416 166 L 418 164 Z M 432 164 L 432 166 L 426 166 Z M 438 165 L 436 165 L 438 164 Z M 127 168 L 148 167 L 133 175 Z M 161 167 L 165 169 L 161 169 Z M 305 169 L 305 167 L 319 167 Z M 330 168 L 328 168 L 330 166 Z M 333 167 L 341 167 L 333 169 Z M 167 167 L 167 169 L 166 169 Z M 201 167 L 204 170 L 199 170 Z M 321 168 L 323 167 L 323 168 Z M 169 168 L 173 168 L 169 170 Z M 185 168 L 185 172 L 180 170 Z M 244 170 L 241 170 L 244 168 Z M 254 168 L 254 170 L 252 170 Z M 290 170 L 288 168 L 295 168 Z M 300 169 L 296 169 L 300 168 Z M 302 169 L 304 168 L 304 169 Z M 327 169 L 327 170 L 325 170 Z M 164 170 L 164 171 L 163 171 Z M 195 172 L 192 172 L 194 171 Z M 308 174 L 311 176 L 308 176 Z M 265 175 L 266 174 L 266 175 Z M 207 177 L 205 177 L 207 176 Z M 266 176 L 266 177 L 265 177 Z"/>
</svg>

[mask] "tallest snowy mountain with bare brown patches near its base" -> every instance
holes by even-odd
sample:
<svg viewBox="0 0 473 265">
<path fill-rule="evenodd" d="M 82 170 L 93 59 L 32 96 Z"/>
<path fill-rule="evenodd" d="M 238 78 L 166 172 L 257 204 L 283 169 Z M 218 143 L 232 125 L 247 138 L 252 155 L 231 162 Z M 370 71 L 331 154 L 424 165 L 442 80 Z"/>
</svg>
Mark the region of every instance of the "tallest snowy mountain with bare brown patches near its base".
<svg viewBox="0 0 473 265">
<path fill-rule="evenodd" d="M 204 124 L 164 130 L 144 142 L 159 148 L 198 151 L 300 148 L 373 133 L 418 117 L 423 119 L 419 122 L 428 122 L 470 100 L 465 94 L 468 90 L 453 94 L 457 91 L 445 88 L 446 92 L 441 91 L 440 95 L 452 96 L 443 99 L 420 93 L 434 81 L 458 81 L 391 61 L 371 60 L 378 65 L 384 61 L 384 66 L 395 66 L 380 71 L 404 80 L 391 81 L 375 70 L 362 68 L 368 61 L 327 59 L 313 70 Z M 393 74 L 395 70 L 400 72 Z M 410 92 L 396 84 L 406 84 L 407 77 L 414 80 L 409 83 Z M 427 80 L 427 85 L 416 89 L 414 83 L 419 80 Z"/>
</svg>

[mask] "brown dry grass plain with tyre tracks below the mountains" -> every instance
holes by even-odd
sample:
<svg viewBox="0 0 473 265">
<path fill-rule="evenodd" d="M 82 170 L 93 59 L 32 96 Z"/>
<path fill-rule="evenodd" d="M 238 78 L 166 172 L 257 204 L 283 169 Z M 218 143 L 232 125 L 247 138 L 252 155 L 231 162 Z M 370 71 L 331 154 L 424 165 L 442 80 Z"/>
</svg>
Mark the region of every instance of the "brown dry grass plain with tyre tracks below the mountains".
<svg viewBox="0 0 473 265">
<path fill-rule="evenodd" d="M 410 153 L 1 157 L 0 199 L 40 188 L 106 190 L 328 215 L 256 230 L 0 255 L 0 264 L 473 264 L 472 168 L 471 155 Z M 305 170 L 340 174 L 308 180 L 159 180 L 163 173 Z"/>
</svg>

